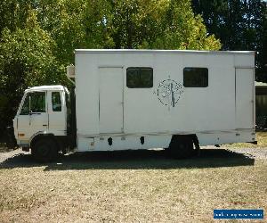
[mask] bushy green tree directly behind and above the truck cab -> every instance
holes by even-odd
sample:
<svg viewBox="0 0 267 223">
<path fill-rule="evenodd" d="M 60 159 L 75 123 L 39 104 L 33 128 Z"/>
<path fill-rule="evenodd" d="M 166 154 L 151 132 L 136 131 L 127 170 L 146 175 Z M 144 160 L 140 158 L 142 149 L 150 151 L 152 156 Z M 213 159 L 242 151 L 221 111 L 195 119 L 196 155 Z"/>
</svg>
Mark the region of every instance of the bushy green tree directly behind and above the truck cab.
<svg viewBox="0 0 267 223">
<path fill-rule="evenodd" d="M 66 84 L 65 70 L 53 56 L 54 42 L 29 13 L 25 29 L 4 29 L 0 45 L 0 126 L 12 120 L 27 87 Z"/>
</svg>

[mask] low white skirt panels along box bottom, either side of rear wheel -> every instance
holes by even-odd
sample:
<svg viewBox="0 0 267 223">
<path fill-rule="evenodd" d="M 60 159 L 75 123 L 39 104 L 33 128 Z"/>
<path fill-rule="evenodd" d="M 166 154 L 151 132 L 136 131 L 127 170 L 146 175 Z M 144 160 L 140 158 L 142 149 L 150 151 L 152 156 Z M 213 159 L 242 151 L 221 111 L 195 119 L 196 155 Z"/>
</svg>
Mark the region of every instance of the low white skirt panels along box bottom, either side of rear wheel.
<svg viewBox="0 0 267 223">
<path fill-rule="evenodd" d="M 199 132 L 197 133 L 197 136 L 200 145 L 221 145 L 255 141 L 255 131 L 253 129 Z M 143 135 L 143 144 L 141 144 L 140 137 L 141 136 L 112 136 L 112 145 L 109 145 L 109 136 L 96 138 L 79 136 L 77 151 L 116 151 L 129 149 L 138 150 L 150 148 L 166 148 L 170 144 L 172 135 Z"/>
</svg>

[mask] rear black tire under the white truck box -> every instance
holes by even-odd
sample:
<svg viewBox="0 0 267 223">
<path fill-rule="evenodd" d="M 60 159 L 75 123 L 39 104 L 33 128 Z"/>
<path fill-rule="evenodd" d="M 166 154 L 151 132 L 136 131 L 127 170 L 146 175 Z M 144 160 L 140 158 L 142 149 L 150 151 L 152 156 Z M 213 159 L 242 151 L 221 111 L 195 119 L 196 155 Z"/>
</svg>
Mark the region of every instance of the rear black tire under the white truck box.
<svg viewBox="0 0 267 223">
<path fill-rule="evenodd" d="M 189 158 L 195 154 L 191 136 L 173 136 L 169 147 L 166 149 L 169 157 L 175 159 Z"/>
</svg>

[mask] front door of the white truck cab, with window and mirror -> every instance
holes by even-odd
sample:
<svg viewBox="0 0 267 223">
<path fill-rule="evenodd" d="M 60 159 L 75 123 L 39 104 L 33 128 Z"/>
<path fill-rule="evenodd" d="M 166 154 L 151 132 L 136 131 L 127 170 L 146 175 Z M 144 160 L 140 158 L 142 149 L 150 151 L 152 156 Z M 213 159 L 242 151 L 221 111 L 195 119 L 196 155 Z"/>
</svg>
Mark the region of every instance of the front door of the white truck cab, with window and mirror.
<svg viewBox="0 0 267 223">
<path fill-rule="evenodd" d="M 48 128 L 48 114 L 46 103 L 46 91 L 29 92 L 17 116 L 18 139 L 21 144 L 34 136 L 37 132 Z"/>
</svg>

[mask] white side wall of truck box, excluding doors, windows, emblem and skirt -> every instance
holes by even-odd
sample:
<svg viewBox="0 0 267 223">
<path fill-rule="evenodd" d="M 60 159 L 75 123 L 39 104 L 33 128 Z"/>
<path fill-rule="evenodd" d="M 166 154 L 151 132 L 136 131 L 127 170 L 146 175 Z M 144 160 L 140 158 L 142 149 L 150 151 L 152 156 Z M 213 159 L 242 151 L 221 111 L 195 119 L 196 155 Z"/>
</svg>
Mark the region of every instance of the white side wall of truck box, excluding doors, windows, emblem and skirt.
<svg viewBox="0 0 267 223">
<path fill-rule="evenodd" d="M 100 130 L 99 120 L 99 68 L 118 69 L 120 66 L 123 67 L 124 79 L 123 134 L 161 135 L 234 130 L 237 128 L 235 68 L 251 66 L 253 63 L 254 54 L 251 52 L 77 51 L 77 135 L 97 137 L 105 133 Z M 127 88 L 125 82 L 128 67 L 153 68 L 153 87 Z M 160 103 L 157 95 L 159 84 L 168 78 L 182 83 L 184 67 L 206 67 L 208 87 L 184 87 L 174 107 Z M 117 83 L 117 87 L 120 85 L 121 82 Z M 109 90 L 111 95 L 113 91 Z M 109 109 L 107 112 L 111 119 L 113 114 Z M 216 138 L 215 135 L 213 138 Z M 213 138 L 210 137 L 208 142 L 213 142 Z"/>
</svg>

